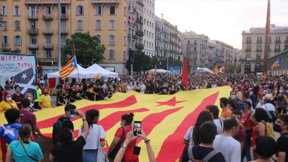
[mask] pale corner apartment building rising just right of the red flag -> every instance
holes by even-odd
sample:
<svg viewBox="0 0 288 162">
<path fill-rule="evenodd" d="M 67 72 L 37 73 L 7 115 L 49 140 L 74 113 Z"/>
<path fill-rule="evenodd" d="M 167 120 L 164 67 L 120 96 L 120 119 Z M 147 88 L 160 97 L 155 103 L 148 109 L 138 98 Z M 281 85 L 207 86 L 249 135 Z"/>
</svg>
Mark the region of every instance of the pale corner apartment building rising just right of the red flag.
<svg viewBox="0 0 288 162">
<path fill-rule="evenodd" d="M 204 34 L 196 34 L 194 31 L 185 31 L 182 34 L 182 51 L 187 54 L 187 65 L 191 69 L 208 67 L 209 37 Z"/>
</svg>

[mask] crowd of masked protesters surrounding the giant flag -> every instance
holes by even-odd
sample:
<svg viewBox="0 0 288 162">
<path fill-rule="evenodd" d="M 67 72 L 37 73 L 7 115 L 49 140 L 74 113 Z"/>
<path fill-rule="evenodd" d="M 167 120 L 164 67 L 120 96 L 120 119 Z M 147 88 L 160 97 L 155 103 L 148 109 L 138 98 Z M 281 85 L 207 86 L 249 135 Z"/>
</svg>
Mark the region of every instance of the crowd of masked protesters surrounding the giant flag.
<svg viewBox="0 0 288 162">
<path fill-rule="evenodd" d="M 3 148 L 0 161 L 43 161 L 41 148 L 35 143 L 35 132 L 40 136 L 42 132 L 33 112 L 55 107 L 48 95 L 47 84 L 42 77 L 37 79 L 37 95 L 33 102 L 33 95 L 20 93 L 20 87 L 13 80 L 5 83 L 4 88 L 0 87 L 0 111 L 5 112 L 7 119 L 7 124 L 0 128 Z M 57 134 L 49 159 L 86 162 L 103 157 L 102 147 L 107 145 L 107 141 L 105 130 L 97 124 L 100 112 L 91 109 L 84 114 L 79 110 L 75 115 L 73 110 L 76 107 L 71 104 L 75 101 L 99 101 L 109 99 L 115 93 L 129 91 L 172 95 L 179 91 L 228 85 L 232 88 L 230 94 L 227 94 L 229 97 L 219 99 L 221 114 L 218 106 L 207 105 L 206 110 L 199 114 L 196 124 L 187 128 L 187 133 L 183 134 L 185 149 L 180 161 L 240 162 L 245 157 L 247 161 L 255 162 L 270 161 L 270 158 L 278 162 L 288 161 L 288 76 L 268 76 L 261 79 L 253 74 L 225 73 L 220 77 L 205 73 L 189 75 L 187 86 L 182 82 L 181 76 L 177 75 L 125 75 L 96 81 L 76 82 L 73 79 L 71 83 L 65 80 L 64 85 L 56 86 L 56 106 L 65 106 L 65 116 L 58 119 L 63 122 L 62 128 Z M 273 122 L 269 122 L 271 111 L 278 114 Z M 83 121 L 77 140 L 74 140 L 74 125 L 70 120 L 75 116 Z M 137 138 L 141 137 L 147 146 L 149 161 L 156 161 L 150 140 L 144 131 L 141 129 L 141 134 L 133 135 L 133 118 L 133 113 L 119 117 L 120 127 L 115 132 L 107 155 L 105 153 L 105 159 L 114 159 L 115 162 L 139 161 L 133 150 L 137 145 Z M 15 136 L 20 139 L 7 140 L 5 132 L 11 128 L 17 130 L 17 133 L 14 131 Z M 274 132 L 279 132 L 281 137 L 276 139 Z M 251 147 L 253 155 L 250 153 Z M 116 149 L 118 152 L 115 153 Z"/>
</svg>

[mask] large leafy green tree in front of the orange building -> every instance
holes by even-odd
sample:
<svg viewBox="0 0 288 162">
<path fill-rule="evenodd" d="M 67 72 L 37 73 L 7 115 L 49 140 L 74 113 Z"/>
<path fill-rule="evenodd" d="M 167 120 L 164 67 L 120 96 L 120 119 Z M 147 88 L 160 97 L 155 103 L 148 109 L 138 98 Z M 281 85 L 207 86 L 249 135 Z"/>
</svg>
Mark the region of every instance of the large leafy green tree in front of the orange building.
<svg viewBox="0 0 288 162">
<path fill-rule="evenodd" d="M 66 39 L 66 46 L 61 52 L 62 58 L 67 58 L 68 54 L 71 55 L 73 42 L 75 44 L 77 63 L 81 63 L 84 67 L 92 65 L 92 59 L 94 63 L 102 62 L 105 59 L 103 57 L 105 46 L 98 46 L 100 40 L 95 35 L 91 37 L 89 31 L 87 33 L 77 32 L 71 35 L 71 39 Z"/>
</svg>

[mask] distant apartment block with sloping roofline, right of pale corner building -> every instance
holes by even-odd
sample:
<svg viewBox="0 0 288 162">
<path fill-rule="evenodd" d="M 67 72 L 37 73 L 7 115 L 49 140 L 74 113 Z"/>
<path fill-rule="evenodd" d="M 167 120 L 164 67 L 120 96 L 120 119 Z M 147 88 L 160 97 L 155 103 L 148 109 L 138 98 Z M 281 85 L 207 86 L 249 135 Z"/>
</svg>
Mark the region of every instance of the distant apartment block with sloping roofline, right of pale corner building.
<svg viewBox="0 0 288 162">
<path fill-rule="evenodd" d="M 233 63 L 233 46 L 218 40 L 210 40 L 209 42 L 216 47 L 216 66 L 221 66 L 223 64 L 230 65 Z"/>
</svg>

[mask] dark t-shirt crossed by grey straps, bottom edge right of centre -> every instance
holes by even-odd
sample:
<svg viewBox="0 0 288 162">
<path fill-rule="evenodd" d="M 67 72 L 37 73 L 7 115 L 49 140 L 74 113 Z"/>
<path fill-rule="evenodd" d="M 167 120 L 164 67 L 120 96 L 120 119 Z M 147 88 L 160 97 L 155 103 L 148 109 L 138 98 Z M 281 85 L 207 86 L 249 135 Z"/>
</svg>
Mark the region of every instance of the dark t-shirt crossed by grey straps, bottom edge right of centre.
<svg viewBox="0 0 288 162">
<path fill-rule="evenodd" d="M 202 147 L 199 145 L 193 146 L 192 148 L 193 157 L 195 160 L 202 160 L 204 157 L 206 157 L 206 155 L 208 155 L 213 150 L 215 149 L 212 147 Z M 182 161 L 187 162 L 189 160 L 190 159 L 189 159 L 188 148 L 187 148 L 183 154 Z M 207 162 L 225 162 L 225 158 L 223 154 L 219 152 Z"/>
</svg>

